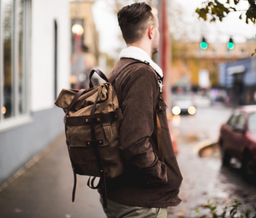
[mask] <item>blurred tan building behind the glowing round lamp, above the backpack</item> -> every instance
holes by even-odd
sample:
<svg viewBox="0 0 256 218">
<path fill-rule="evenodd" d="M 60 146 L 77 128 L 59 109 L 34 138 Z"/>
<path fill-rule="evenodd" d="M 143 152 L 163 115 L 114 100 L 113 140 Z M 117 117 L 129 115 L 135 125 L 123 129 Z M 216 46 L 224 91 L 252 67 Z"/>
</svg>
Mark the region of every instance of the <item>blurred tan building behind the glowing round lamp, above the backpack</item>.
<svg viewBox="0 0 256 218">
<path fill-rule="evenodd" d="M 93 19 L 93 4 L 93 0 L 70 2 L 71 74 L 76 89 L 89 88 L 89 74 L 99 65 L 99 39 Z M 80 26 L 81 32 L 73 29 L 76 25 Z M 93 80 L 97 84 L 95 76 Z"/>
</svg>

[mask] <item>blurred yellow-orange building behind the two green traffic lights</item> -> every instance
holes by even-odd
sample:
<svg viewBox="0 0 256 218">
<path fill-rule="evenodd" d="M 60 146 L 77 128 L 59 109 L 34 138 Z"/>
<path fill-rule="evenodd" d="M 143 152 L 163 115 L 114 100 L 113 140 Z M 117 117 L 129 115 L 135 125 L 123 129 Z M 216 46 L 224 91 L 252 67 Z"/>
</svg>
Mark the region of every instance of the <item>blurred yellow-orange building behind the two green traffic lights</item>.
<svg viewBox="0 0 256 218">
<path fill-rule="evenodd" d="M 251 57 L 256 41 L 235 43 L 228 50 L 226 43 L 208 43 L 202 50 L 200 42 L 173 42 L 172 85 L 187 81 L 192 87 L 199 87 L 201 70 L 209 73 L 211 87 L 219 87 L 219 64 Z"/>
</svg>

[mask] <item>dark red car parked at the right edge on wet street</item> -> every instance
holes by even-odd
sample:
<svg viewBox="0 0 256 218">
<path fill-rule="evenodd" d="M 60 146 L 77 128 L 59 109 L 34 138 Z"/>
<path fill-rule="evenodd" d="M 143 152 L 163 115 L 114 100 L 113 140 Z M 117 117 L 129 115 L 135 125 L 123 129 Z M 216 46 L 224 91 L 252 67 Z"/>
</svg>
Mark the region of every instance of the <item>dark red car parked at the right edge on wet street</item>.
<svg viewBox="0 0 256 218">
<path fill-rule="evenodd" d="M 234 110 L 219 135 L 222 163 L 228 165 L 231 157 L 242 163 L 246 179 L 256 179 L 256 105 L 247 105 Z"/>
</svg>

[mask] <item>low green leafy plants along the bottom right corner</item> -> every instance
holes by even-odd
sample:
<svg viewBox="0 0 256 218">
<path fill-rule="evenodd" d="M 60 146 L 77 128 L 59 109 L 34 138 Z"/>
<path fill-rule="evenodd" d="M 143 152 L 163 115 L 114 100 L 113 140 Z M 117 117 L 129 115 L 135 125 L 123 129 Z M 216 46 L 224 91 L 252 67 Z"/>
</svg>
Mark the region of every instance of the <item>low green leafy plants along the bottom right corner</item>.
<svg viewBox="0 0 256 218">
<path fill-rule="evenodd" d="M 239 211 L 239 206 L 242 204 L 239 201 L 234 201 L 232 205 L 223 208 L 221 214 L 217 212 L 217 206 L 207 201 L 207 205 L 204 208 L 210 209 L 210 214 L 205 214 L 199 218 L 256 218 L 256 207 L 254 208 L 254 216 L 252 212 L 247 209 L 246 211 Z M 195 212 L 199 213 L 199 209 L 195 209 Z"/>
</svg>

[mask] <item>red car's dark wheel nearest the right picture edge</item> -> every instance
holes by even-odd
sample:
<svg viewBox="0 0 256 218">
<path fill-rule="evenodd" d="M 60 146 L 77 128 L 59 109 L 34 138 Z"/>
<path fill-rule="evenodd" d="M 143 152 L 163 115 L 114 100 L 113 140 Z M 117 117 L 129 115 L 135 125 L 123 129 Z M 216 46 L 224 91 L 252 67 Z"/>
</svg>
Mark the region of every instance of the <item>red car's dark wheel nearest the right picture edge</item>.
<svg viewBox="0 0 256 218">
<path fill-rule="evenodd" d="M 245 151 L 242 160 L 242 172 L 247 181 L 256 181 L 256 163 L 249 151 Z"/>
</svg>

